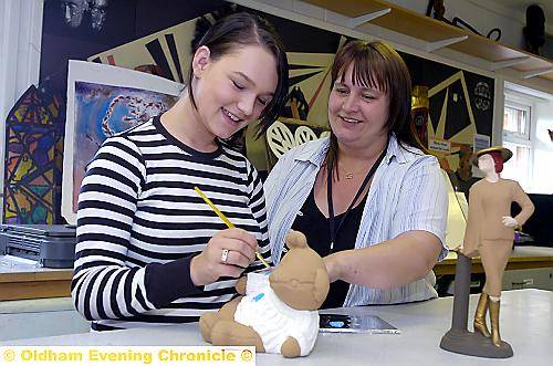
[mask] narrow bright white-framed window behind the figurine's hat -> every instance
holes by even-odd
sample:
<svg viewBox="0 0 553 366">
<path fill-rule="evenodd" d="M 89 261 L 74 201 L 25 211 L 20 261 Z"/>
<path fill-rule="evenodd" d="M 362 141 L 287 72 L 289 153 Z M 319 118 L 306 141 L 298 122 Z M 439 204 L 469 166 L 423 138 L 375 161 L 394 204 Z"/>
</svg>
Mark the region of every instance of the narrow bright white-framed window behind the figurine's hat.
<svg viewBox="0 0 553 366">
<path fill-rule="evenodd" d="M 531 121 L 532 103 L 505 95 L 503 146 L 513 153 L 513 157 L 503 166 L 501 176 L 517 180 L 524 190 L 529 190 L 532 184 Z"/>
</svg>

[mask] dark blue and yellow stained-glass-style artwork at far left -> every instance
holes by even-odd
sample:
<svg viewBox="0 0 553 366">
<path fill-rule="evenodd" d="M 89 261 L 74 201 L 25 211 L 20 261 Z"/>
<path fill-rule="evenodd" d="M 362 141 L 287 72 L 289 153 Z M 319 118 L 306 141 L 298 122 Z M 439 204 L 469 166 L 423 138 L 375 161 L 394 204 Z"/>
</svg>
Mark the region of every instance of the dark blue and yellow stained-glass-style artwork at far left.
<svg viewBox="0 0 553 366">
<path fill-rule="evenodd" d="M 31 85 L 6 121 L 4 223 L 54 223 L 60 217 L 62 104 Z"/>
</svg>

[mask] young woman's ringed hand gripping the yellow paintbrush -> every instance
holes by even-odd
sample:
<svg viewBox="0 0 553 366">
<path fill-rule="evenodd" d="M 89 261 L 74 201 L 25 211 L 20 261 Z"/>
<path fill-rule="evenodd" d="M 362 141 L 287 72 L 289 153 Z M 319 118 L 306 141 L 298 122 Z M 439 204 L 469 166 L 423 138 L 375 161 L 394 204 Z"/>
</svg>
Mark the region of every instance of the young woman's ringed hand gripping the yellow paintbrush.
<svg viewBox="0 0 553 366">
<path fill-rule="evenodd" d="M 255 260 L 258 241 L 246 230 L 225 229 L 213 236 L 204 251 L 190 262 L 190 279 L 197 286 L 221 276 L 239 278 Z M 223 252 L 227 252 L 223 255 Z M 223 259 L 226 258 L 226 261 Z"/>
</svg>

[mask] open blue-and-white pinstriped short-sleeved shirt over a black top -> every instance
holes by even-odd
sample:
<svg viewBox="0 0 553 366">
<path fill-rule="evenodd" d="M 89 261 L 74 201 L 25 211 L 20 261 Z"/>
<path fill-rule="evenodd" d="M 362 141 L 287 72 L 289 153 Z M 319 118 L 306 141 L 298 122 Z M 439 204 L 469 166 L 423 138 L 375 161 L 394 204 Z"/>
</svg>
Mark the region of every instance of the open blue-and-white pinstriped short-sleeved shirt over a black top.
<svg viewBox="0 0 553 366">
<path fill-rule="evenodd" d="M 273 262 L 281 258 L 284 237 L 313 189 L 330 139 L 301 145 L 283 155 L 264 184 L 269 238 Z M 448 196 L 436 157 L 399 146 L 390 136 L 383 164 L 376 170 L 363 209 L 355 249 L 371 247 L 411 230 L 434 233 L 442 243 L 438 261 L 448 253 L 446 224 Z M 344 306 L 392 304 L 437 297 L 436 276 L 390 290 L 352 284 Z"/>
</svg>

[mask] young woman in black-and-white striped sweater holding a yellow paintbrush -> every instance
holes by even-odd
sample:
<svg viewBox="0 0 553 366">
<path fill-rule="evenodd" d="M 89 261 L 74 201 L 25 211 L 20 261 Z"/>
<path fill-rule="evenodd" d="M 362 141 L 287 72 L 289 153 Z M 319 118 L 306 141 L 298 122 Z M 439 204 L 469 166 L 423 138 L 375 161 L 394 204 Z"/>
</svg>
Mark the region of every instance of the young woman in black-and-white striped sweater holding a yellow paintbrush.
<svg viewBox="0 0 553 366">
<path fill-rule="evenodd" d="M 273 122 L 288 63 L 273 28 L 238 13 L 194 50 L 186 93 L 160 117 L 108 138 L 79 198 L 72 296 L 93 330 L 198 320 L 270 258 L 255 169 L 223 140 Z M 237 227 L 226 224 L 199 187 Z"/>
</svg>

